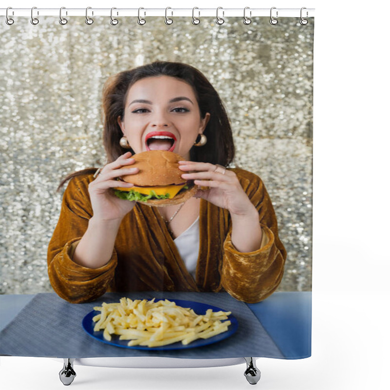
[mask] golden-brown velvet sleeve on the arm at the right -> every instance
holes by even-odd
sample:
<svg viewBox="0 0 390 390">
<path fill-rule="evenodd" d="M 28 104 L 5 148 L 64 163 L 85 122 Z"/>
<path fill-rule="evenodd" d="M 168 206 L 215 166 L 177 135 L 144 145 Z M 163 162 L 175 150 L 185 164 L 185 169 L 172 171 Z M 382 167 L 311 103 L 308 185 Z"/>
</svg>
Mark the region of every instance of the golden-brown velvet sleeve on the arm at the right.
<svg viewBox="0 0 390 390">
<path fill-rule="evenodd" d="M 248 173 L 249 174 L 249 173 Z M 259 213 L 266 244 L 251 253 L 238 252 L 232 244 L 230 227 L 224 242 L 221 284 L 234 298 L 247 303 L 271 295 L 283 276 L 286 250 L 279 239 L 276 215 L 267 190 L 258 176 L 239 177 L 244 191 Z"/>
</svg>

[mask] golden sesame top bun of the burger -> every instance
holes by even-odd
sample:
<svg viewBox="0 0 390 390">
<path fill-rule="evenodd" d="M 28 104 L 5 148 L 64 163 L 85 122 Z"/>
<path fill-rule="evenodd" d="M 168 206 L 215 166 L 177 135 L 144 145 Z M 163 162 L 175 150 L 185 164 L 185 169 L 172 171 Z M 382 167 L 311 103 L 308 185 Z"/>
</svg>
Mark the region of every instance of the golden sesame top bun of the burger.
<svg viewBox="0 0 390 390">
<path fill-rule="evenodd" d="M 181 177 L 182 171 L 178 169 L 178 161 L 184 158 L 177 153 L 165 150 L 150 150 L 132 156 L 136 160 L 131 165 L 138 168 L 135 175 L 122 176 L 122 180 L 136 186 L 166 186 L 185 182 Z M 128 168 L 128 166 L 126 166 Z"/>
</svg>

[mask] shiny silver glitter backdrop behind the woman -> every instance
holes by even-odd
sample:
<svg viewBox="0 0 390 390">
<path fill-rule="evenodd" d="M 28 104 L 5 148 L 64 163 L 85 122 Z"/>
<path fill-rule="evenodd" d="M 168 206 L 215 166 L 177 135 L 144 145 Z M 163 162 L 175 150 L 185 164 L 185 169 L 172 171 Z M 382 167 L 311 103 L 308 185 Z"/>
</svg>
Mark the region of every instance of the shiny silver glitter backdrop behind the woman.
<svg viewBox="0 0 390 390">
<path fill-rule="evenodd" d="M 154 60 L 194 65 L 224 101 L 235 164 L 262 177 L 288 251 L 279 291 L 311 290 L 313 19 L 0 18 L 1 293 L 51 292 L 46 251 L 66 174 L 105 162 L 106 78 Z"/>
</svg>

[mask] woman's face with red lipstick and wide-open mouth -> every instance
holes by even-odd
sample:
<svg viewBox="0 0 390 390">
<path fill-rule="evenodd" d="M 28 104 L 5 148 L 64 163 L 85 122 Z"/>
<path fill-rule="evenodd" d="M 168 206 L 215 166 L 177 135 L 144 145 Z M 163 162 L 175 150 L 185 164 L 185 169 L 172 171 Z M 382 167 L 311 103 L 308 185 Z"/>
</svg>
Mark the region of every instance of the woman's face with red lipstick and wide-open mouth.
<svg viewBox="0 0 390 390">
<path fill-rule="evenodd" d="M 193 88 L 169 76 L 142 78 L 127 94 L 118 123 L 135 153 L 168 150 L 190 158 L 210 114 L 201 118 Z"/>
</svg>

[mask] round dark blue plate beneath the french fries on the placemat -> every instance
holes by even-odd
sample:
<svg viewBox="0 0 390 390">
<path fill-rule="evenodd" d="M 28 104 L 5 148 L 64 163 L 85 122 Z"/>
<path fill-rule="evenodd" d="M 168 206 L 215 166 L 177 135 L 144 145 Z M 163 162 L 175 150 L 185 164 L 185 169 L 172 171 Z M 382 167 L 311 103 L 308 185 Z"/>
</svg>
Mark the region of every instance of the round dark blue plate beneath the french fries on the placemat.
<svg viewBox="0 0 390 390">
<path fill-rule="evenodd" d="M 156 299 L 156 302 L 161 299 Z M 163 299 L 162 299 L 163 300 Z M 208 309 L 212 309 L 213 312 L 228 312 L 228 310 L 220 309 L 215 306 L 207 305 L 205 303 L 199 303 L 199 302 L 193 302 L 193 301 L 182 301 L 180 299 L 170 299 L 170 301 L 175 302 L 177 306 L 181 306 L 183 308 L 190 308 L 193 309 L 196 314 L 206 314 L 206 311 Z M 135 345 L 129 347 L 127 343 L 129 340 L 119 340 L 119 336 L 112 335 L 111 341 L 106 340 L 103 337 L 103 331 L 94 331 L 95 322 L 92 320 L 92 318 L 99 314 L 100 312 L 97 312 L 93 310 L 92 312 L 89 312 L 82 320 L 82 327 L 84 328 L 84 331 L 86 331 L 91 337 L 95 338 L 96 340 L 102 341 L 103 343 L 115 345 L 117 347 L 122 348 L 131 348 L 135 350 L 183 350 L 187 348 L 196 348 L 196 347 L 202 347 L 204 345 L 209 345 L 213 343 L 217 343 L 218 341 L 224 340 L 228 337 L 230 337 L 238 328 L 238 322 L 237 319 L 234 317 L 233 314 L 230 314 L 228 319 L 231 321 L 231 325 L 229 325 L 228 330 L 222 333 L 219 333 L 213 337 L 202 339 L 199 338 L 197 340 L 194 340 L 193 342 L 183 345 L 180 341 L 177 343 L 164 345 L 162 347 L 146 347 L 141 345 Z"/>
</svg>

